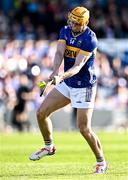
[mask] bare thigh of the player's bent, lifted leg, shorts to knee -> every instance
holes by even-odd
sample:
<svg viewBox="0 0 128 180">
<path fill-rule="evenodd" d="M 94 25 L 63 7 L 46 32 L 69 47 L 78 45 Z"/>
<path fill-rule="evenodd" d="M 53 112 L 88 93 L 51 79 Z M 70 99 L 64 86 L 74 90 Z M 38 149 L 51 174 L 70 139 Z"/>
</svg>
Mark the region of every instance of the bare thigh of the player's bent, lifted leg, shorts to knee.
<svg viewBox="0 0 128 180">
<path fill-rule="evenodd" d="M 68 105 L 70 100 L 61 94 L 56 88 L 53 88 L 42 102 L 39 112 L 45 112 L 48 115 L 52 112 Z"/>
</svg>

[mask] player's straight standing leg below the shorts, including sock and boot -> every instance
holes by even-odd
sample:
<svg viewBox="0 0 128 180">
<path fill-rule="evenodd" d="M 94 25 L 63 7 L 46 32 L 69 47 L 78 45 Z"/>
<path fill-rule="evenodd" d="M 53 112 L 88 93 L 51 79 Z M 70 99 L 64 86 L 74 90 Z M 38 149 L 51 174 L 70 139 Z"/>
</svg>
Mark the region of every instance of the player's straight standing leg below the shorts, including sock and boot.
<svg viewBox="0 0 128 180">
<path fill-rule="evenodd" d="M 96 173 L 105 173 L 106 162 L 99 138 L 91 128 L 93 109 L 77 109 L 77 124 L 96 157 Z"/>
</svg>

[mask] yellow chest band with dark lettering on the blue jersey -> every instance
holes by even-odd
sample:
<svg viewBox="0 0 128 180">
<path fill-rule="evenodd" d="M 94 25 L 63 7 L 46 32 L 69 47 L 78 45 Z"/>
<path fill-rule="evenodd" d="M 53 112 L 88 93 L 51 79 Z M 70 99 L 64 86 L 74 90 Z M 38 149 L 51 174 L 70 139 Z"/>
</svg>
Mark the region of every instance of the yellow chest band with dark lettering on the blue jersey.
<svg viewBox="0 0 128 180">
<path fill-rule="evenodd" d="M 66 46 L 64 56 L 69 57 L 69 58 L 75 58 L 77 54 L 79 53 L 79 51 L 80 51 L 80 48 Z"/>
</svg>

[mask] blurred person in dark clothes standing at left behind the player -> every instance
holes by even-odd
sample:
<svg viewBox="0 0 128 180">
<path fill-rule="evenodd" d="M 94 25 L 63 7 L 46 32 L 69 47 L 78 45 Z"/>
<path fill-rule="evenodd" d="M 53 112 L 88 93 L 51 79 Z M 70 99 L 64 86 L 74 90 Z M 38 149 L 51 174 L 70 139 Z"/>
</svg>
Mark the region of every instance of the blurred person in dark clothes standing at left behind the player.
<svg viewBox="0 0 128 180">
<path fill-rule="evenodd" d="M 29 79 L 26 75 L 20 76 L 20 84 L 17 90 L 17 102 L 13 109 L 12 125 L 18 131 L 30 129 L 30 122 L 27 112 L 27 100 L 30 98 Z"/>
</svg>

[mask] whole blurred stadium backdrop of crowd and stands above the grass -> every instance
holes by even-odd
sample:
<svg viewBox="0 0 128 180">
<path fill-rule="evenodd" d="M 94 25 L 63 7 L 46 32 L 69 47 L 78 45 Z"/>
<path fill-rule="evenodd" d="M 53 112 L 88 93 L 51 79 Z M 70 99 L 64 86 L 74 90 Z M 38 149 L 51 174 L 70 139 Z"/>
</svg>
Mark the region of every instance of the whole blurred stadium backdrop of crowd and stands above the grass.
<svg viewBox="0 0 128 180">
<path fill-rule="evenodd" d="M 89 26 L 99 39 L 96 57 L 98 93 L 93 125 L 102 129 L 127 128 L 128 1 L 1 0 L 1 131 L 37 130 L 35 110 L 42 98 L 39 97 L 40 90 L 36 83 L 47 79 L 52 72 L 59 30 L 66 24 L 67 12 L 77 5 L 89 8 Z M 22 94 L 20 90 L 24 86 L 26 90 Z M 23 128 L 17 128 L 12 123 L 15 105 L 19 100 L 24 104 L 24 114 L 19 120 L 23 122 Z M 69 106 L 55 113 L 52 118 L 56 129 L 76 128 L 75 109 Z"/>
</svg>

